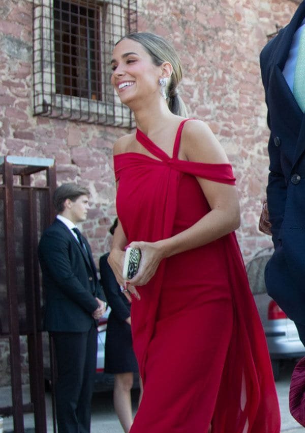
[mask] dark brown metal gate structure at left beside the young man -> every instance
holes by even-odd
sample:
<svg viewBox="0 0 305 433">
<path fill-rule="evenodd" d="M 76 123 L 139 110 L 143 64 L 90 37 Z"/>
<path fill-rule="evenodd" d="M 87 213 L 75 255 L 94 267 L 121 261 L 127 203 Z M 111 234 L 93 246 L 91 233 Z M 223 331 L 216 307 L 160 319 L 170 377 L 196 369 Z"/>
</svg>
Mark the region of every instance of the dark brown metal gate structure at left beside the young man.
<svg viewBox="0 0 305 433">
<path fill-rule="evenodd" d="M 35 433 L 47 431 L 37 245 L 54 218 L 55 187 L 54 159 L 0 158 L 0 344 L 9 351 L 11 390 L 0 414 L 13 417 L 14 433 L 24 433 L 25 413 L 33 413 Z"/>
</svg>

